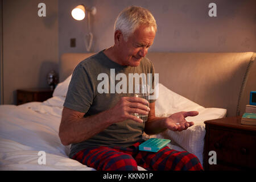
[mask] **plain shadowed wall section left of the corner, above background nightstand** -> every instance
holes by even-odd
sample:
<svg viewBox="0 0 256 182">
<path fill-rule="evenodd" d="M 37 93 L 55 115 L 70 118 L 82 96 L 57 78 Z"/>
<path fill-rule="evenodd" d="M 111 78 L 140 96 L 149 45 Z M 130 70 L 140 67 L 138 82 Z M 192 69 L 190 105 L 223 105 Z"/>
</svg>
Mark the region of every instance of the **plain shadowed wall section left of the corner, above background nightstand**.
<svg viewBox="0 0 256 182">
<path fill-rule="evenodd" d="M 16 89 L 47 87 L 58 59 L 58 1 L 3 0 L 3 103 L 16 104 Z"/>
</svg>

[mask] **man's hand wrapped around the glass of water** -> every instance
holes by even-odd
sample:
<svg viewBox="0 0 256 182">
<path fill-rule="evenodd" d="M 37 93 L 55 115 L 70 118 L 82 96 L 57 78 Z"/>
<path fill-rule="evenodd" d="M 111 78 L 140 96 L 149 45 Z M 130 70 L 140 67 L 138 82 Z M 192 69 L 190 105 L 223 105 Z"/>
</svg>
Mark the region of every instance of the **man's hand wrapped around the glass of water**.
<svg viewBox="0 0 256 182">
<path fill-rule="evenodd" d="M 126 119 L 132 119 L 136 122 L 143 122 L 132 113 L 148 114 L 150 107 L 148 101 L 139 97 L 122 97 L 117 104 L 109 109 L 112 122 L 122 122 Z"/>
</svg>

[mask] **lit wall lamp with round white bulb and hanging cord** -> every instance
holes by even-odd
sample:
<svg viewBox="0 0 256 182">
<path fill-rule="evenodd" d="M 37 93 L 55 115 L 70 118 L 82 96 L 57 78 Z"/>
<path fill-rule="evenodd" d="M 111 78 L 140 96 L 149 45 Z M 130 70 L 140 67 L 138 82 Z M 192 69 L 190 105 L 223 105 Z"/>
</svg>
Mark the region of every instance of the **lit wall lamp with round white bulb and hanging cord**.
<svg viewBox="0 0 256 182">
<path fill-rule="evenodd" d="M 92 7 L 91 9 L 89 9 L 88 7 L 84 6 L 84 5 L 79 5 L 76 6 L 72 11 L 71 11 L 71 15 L 75 20 L 83 20 L 85 18 L 85 13 L 87 11 L 87 16 L 88 16 L 88 30 L 89 33 L 86 34 L 86 38 L 85 38 L 85 47 L 86 50 L 89 52 L 90 48 L 92 47 L 92 40 L 93 40 L 93 34 L 92 31 L 90 30 L 90 15 L 95 15 L 97 10 L 96 7 Z"/>
</svg>

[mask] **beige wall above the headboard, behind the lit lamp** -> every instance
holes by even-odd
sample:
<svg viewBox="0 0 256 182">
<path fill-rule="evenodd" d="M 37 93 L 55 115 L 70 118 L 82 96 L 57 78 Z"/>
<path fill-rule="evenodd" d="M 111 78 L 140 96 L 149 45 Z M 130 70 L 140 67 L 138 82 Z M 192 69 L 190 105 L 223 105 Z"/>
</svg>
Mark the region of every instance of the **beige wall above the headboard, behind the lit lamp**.
<svg viewBox="0 0 256 182">
<path fill-rule="evenodd" d="M 208 15 L 211 2 L 217 5 L 217 17 Z M 146 7 L 155 16 L 158 32 L 151 51 L 256 51 L 255 0 L 63 0 L 59 3 L 59 55 L 86 52 L 86 20 L 73 20 L 69 13 L 80 3 L 97 8 L 92 26 L 93 51 L 113 45 L 115 18 L 130 5 Z M 69 47 L 71 38 L 77 39 L 77 47 Z"/>
</svg>

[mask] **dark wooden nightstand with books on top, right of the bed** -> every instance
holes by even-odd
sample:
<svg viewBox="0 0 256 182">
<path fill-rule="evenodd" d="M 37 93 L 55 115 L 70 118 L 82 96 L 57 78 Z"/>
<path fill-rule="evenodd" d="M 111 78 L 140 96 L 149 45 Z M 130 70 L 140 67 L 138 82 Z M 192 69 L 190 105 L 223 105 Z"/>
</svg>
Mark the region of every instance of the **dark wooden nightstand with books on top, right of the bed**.
<svg viewBox="0 0 256 182">
<path fill-rule="evenodd" d="M 256 169 L 256 126 L 241 125 L 241 116 L 205 121 L 205 170 Z M 217 164 L 209 164 L 215 151 Z"/>
</svg>

